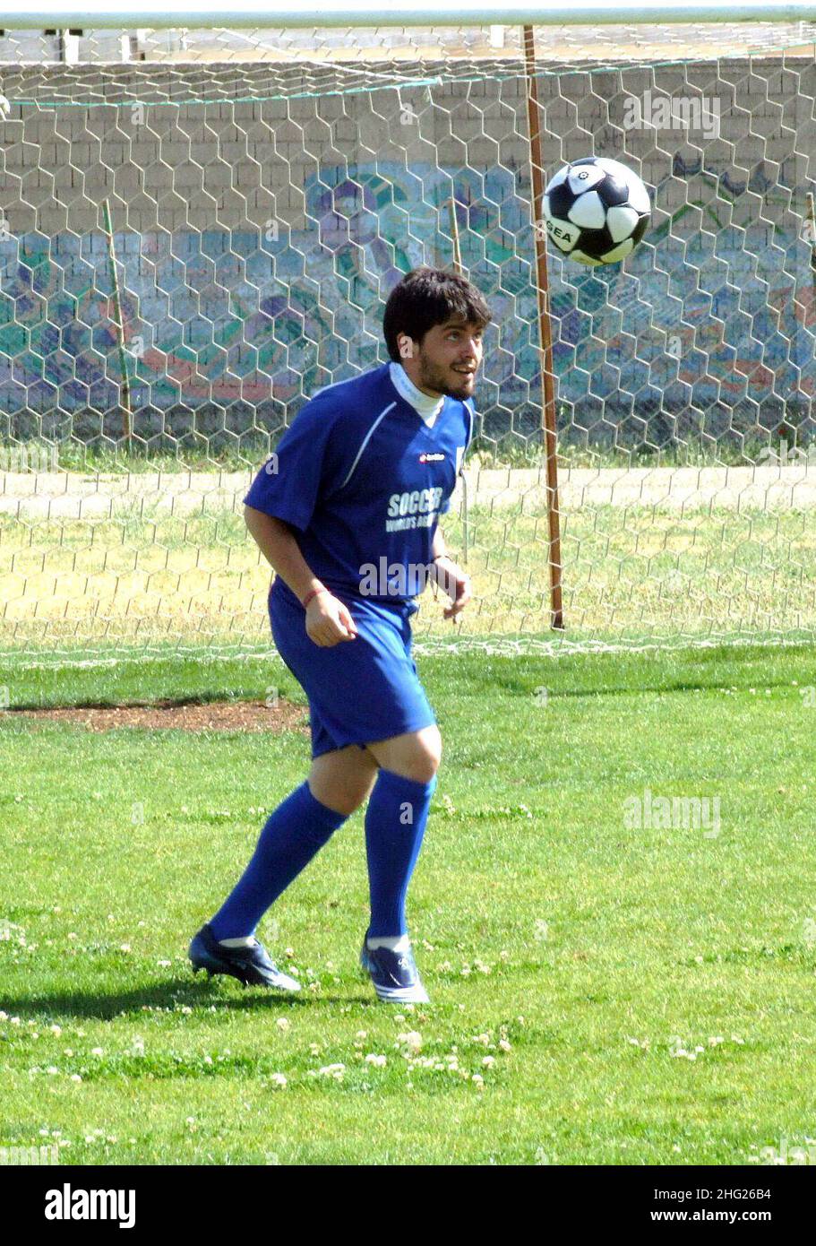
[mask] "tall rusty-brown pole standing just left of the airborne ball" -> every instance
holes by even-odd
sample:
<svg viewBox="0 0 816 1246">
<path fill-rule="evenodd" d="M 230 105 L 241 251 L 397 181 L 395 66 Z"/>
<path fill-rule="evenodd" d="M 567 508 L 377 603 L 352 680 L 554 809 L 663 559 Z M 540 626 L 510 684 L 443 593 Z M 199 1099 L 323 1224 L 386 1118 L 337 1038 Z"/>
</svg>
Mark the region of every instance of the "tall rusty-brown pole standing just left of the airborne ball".
<svg viewBox="0 0 816 1246">
<path fill-rule="evenodd" d="M 538 299 L 538 349 L 542 378 L 542 430 L 547 460 L 547 521 L 549 528 L 549 602 L 552 628 L 562 630 L 561 512 L 558 510 L 558 450 L 556 436 L 556 384 L 549 324 L 549 280 L 547 277 L 547 238 L 543 231 L 543 161 L 541 155 L 541 113 L 536 81 L 536 36 L 524 26 L 524 69 L 527 77 L 527 121 L 529 126 L 529 173 L 532 182 L 533 238 L 536 243 L 536 295 Z"/>
</svg>

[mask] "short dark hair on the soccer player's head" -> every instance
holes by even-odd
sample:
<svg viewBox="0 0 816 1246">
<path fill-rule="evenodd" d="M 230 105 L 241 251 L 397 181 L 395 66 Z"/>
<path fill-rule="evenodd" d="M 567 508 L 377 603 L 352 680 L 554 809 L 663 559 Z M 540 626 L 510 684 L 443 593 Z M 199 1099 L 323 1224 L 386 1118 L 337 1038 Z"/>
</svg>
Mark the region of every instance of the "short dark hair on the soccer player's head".
<svg viewBox="0 0 816 1246">
<path fill-rule="evenodd" d="M 415 268 L 394 287 L 385 304 L 382 334 L 389 355 L 399 363 L 397 334 L 421 343 L 429 329 L 455 315 L 481 328 L 492 320 L 483 294 L 471 282 L 442 268 Z"/>
</svg>

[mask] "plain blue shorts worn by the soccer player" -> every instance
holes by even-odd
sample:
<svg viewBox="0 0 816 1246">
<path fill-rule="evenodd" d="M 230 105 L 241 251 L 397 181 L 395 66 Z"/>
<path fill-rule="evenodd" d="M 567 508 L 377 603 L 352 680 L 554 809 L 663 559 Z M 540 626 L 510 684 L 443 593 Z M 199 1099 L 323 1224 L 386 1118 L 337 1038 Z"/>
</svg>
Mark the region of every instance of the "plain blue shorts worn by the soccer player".
<svg viewBox="0 0 816 1246">
<path fill-rule="evenodd" d="M 309 698 L 313 758 L 436 723 L 411 658 L 416 607 L 335 596 L 349 608 L 358 635 L 323 648 L 306 635 L 305 611 L 280 577 L 269 591 L 275 647 Z"/>
</svg>

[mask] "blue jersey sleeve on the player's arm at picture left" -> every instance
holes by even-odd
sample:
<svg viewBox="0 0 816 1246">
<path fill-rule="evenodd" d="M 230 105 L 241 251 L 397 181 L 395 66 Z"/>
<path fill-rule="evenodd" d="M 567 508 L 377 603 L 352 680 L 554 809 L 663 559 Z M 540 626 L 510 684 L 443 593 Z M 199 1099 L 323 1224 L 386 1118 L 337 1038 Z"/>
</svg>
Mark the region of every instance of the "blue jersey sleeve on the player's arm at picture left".
<svg viewBox="0 0 816 1246">
<path fill-rule="evenodd" d="M 319 498 L 343 480 L 335 434 L 340 414 L 323 395 L 306 402 L 252 482 L 245 505 L 305 532 Z"/>
</svg>

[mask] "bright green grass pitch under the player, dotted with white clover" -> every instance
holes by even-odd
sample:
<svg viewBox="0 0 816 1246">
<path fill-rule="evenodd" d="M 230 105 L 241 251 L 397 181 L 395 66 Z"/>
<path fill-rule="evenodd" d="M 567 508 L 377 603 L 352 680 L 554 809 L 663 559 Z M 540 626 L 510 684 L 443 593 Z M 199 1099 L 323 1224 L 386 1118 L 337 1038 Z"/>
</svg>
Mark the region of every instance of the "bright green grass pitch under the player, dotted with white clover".
<svg viewBox="0 0 816 1246">
<path fill-rule="evenodd" d="M 303 778 L 301 735 L 0 714 L 2 1145 L 59 1131 L 78 1164 L 634 1165 L 749 1164 L 816 1136 L 812 650 L 420 673 L 445 740 L 410 905 L 432 1004 L 401 1013 L 355 968 L 360 815 L 260 928 L 301 998 L 188 971 L 191 933 Z M 0 683 L 12 706 L 295 695 L 270 660 L 17 664 Z M 645 787 L 719 796 L 719 835 L 628 829 Z M 333 1064 L 341 1080 L 319 1073 Z"/>
</svg>

